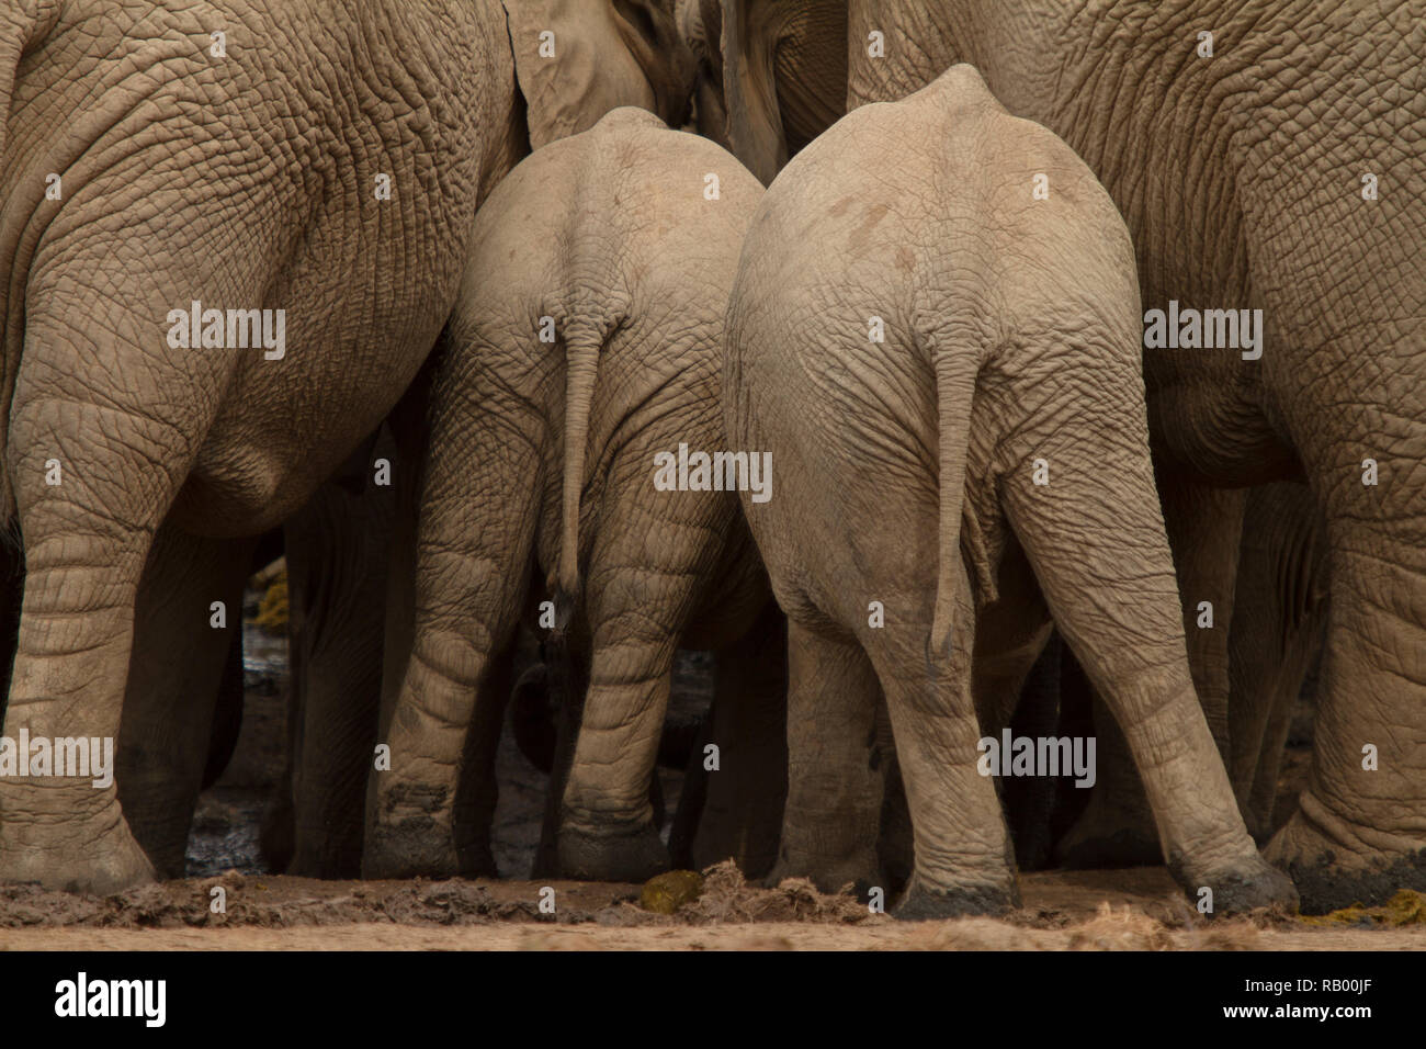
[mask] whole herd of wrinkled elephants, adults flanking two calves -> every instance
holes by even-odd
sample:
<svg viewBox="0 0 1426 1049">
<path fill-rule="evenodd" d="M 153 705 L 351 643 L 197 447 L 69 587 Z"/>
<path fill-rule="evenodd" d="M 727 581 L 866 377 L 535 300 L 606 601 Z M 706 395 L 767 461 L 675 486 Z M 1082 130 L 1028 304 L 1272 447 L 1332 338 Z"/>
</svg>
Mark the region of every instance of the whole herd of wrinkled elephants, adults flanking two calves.
<svg viewBox="0 0 1426 1049">
<path fill-rule="evenodd" d="M 1423 53 L 1419 0 L 6 4 L 0 882 L 183 873 L 281 548 L 294 873 L 495 875 L 538 647 L 540 876 L 1426 889 Z"/>
</svg>

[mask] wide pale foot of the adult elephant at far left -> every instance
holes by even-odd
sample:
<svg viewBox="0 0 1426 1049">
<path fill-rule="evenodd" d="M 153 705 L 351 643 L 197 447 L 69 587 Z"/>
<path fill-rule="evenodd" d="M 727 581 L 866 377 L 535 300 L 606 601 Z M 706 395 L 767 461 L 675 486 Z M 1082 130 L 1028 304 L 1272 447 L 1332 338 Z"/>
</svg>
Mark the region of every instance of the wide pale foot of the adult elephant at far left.
<svg viewBox="0 0 1426 1049">
<path fill-rule="evenodd" d="M 113 788 L 10 782 L 0 791 L 0 883 L 108 895 L 155 881 Z"/>
</svg>

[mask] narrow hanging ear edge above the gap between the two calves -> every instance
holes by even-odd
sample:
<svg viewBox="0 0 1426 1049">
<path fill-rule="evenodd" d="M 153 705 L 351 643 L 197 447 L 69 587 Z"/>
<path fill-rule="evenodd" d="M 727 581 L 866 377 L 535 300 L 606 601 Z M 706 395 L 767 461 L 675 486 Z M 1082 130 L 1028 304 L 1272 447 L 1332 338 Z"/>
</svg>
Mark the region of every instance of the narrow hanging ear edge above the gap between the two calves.
<svg viewBox="0 0 1426 1049">
<path fill-rule="evenodd" d="M 723 3 L 723 98 L 733 156 L 767 186 L 787 163 L 787 134 L 777 108 L 773 57 L 777 34 L 771 6 L 761 0 Z"/>
</svg>

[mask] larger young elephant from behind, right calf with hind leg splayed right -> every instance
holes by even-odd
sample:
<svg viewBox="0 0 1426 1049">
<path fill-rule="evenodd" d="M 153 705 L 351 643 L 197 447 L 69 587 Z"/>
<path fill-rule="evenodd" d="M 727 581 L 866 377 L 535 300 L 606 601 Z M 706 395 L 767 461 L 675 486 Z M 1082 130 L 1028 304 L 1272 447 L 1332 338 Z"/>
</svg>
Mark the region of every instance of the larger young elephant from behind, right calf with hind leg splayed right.
<svg viewBox="0 0 1426 1049">
<path fill-rule="evenodd" d="M 971 654 L 1018 547 L 1124 726 L 1179 883 L 1211 888 L 1215 912 L 1295 901 L 1243 829 L 1194 695 L 1134 254 L 1062 141 L 970 66 L 838 121 L 759 207 L 724 368 L 730 441 L 774 464 L 774 498 L 743 507 L 790 619 L 777 875 L 876 875 L 867 751 L 884 696 L 914 828 L 900 913 L 1017 902 L 977 768 Z"/>
</svg>

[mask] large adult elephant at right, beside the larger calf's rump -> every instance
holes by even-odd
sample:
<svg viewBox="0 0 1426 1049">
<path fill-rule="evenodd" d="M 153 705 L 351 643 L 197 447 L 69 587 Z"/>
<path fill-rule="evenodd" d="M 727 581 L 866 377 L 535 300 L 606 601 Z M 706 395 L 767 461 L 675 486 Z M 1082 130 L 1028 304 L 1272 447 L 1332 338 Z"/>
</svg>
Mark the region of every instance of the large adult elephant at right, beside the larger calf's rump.
<svg viewBox="0 0 1426 1049">
<path fill-rule="evenodd" d="M 1301 478 L 1325 517 L 1313 766 L 1268 846 L 1308 911 L 1426 888 L 1423 16 L 1402 0 L 850 4 L 848 108 L 974 63 L 1109 190 L 1147 310 L 1262 310 L 1256 347 L 1144 361 L 1161 480 Z"/>
</svg>

